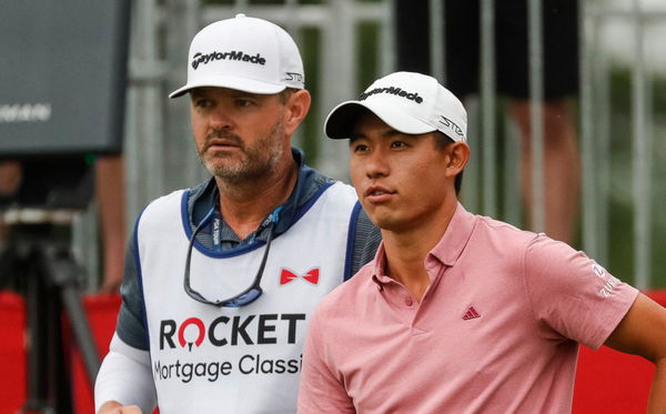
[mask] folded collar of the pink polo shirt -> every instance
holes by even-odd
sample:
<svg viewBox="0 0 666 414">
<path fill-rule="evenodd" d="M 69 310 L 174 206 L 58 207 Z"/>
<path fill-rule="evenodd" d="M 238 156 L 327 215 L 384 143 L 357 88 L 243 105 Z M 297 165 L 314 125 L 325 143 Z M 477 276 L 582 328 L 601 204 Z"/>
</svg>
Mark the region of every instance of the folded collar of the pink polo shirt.
<svg viewBox="0 0 666 414">
<path fill-rule="evenodd" d="M 461 254 L 463 254 L 463 251 L 465 250 L 465 246 L 472 236 L 475 224 L 476 215 L 467 212 L 463 204 L 458 202 L 455 208 L 455 212 L 451 218 L 451 222 L 448 222 L 448 226 L 444 232 L 444 235 L 430 251 L 425 259 L 426 262 L 432 256 L 446 266 L 455 265 L 455 262 L 458 260 Z M 383 277 L 386 277 L 384 276 L 386 274 L 386 254 L 384 250 L 384 241 L 382 241 L 380 244 L 373 263 L 374 270 L 372 280 L 377 284 L 386 282 L 382 281 Z"/>
</svg>

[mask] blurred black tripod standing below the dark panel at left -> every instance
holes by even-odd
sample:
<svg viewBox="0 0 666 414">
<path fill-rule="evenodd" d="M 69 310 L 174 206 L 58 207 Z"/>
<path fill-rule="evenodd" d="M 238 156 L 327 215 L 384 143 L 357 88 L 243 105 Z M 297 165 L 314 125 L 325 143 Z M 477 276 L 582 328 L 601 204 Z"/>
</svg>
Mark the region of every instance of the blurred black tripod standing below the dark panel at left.
<svg viewBox="0 0 666 414">
<path fill-rule="evenodd" d="M 0 284 L 26 297 L 28 330 L 28 398 L 21 411 L 72 413 L 69 355 L 63 346 L 67 316 L 92 384 L 100 359 L 81 303 L 83 274 L 70 248 L 73 213 L 9 211 L 10 240 L 0 258 Z"/>
</svg>

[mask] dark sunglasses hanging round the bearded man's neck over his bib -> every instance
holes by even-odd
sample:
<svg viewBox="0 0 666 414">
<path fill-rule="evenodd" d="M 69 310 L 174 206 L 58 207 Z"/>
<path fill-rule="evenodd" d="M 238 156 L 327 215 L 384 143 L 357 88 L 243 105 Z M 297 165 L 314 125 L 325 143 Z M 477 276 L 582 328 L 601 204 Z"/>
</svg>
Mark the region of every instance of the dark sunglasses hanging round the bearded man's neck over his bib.
<svg viewBox="0 0 666 414">
<path fill-rule="evenodd" d="M 271 241 L 273 240 L 273 228 L 275 226 L 275 223 L 278 222 L 278 214 L 280 213 L 280 210 L 282 210 L 282 206 L 279 206 L 278 209 L 275 209 L 266 218 L 266 221 L 269 221 L 269 223 L 266 223 L 265 221 L 263 223 L 263 225 L 266 225 L 266 224 L 270 225 L 269 236 L 266 239 L 266 249 L 264 250 L 263 259 L 261 260 L 261 264 L 259 266 L 259 270 L 256 271 L 256 275 L 254 276 L 254 282 L 252 282 L 252 285 L 250 285 L 250 287 L 245 289 L 244 291 L 242 291 L 241 293 L 239 293 L 232 297 L 229 297 L 225 300 L 210 301 L 210 300 L 203 297 L 203 295 L 201 293 L 193 290 L 192 286 L 190 285 L 190 263 L 192 261 L 192 248 L 194 246 L 194 241 L 196 240 L 196 234 L 199 233 L 199 231 L 201 231 L 201 229 L 203 229 L 203 226 L 205 224 L 208 224 L 208 221 L 212 216 L 212 210 L 211 210 L 211 212 L 209 214 L 206 214 L 206 216 L 201 221 L 201 223 L 199 223 L 196 229 L 194 229 L 194 232 L 192 232 L 192 236 L 190 238 L 190 244 L 188 246 L 188 258 L 185 259 L 185 276 L 184 276 L 184 282 L 183 282 L 185 293 L 190 297 L 195 300 L 196 302 L 205 303 L 209 305 L 215 305 L 219 307 L 222 307 L 222 306 L 241 307 L 241 306 L 248 305 L 248 304 L 256 301 L 256 299 L 259 296 L 261 296 L 261 294 L 263 292 L 260 286 L 261 277 L 263 275 L 263 270 L 266 265 L 266 259 L 269 259 L 269 250 L 271 250 Z"/>
</svg>

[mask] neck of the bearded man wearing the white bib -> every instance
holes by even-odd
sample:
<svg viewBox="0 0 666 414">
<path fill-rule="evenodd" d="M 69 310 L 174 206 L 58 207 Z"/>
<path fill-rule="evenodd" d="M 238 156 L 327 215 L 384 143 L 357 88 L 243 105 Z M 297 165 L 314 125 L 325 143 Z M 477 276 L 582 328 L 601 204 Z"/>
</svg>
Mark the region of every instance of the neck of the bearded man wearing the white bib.
<svg viewBox="0 0 666 414">
<path fill-rule="evenodd" d="M 297 178 L 299 168 L 293 161 L 261 182 L 230 185 L 215 178 L 224 222 L 240 239 L 245 239 L 289 199 Z"/>
</svg>

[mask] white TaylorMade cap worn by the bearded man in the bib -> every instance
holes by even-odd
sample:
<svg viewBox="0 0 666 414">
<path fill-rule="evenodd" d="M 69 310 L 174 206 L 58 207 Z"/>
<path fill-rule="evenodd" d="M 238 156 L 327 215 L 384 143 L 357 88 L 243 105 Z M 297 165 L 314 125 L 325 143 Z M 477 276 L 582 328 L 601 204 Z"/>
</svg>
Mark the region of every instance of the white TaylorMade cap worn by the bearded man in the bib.
<svg viewBox="0 0 666 414">
<path fill-rule="evenodd" d="M 200 87 L 272 94 L 285 88 L 303 89 L 304 80 L 299 48 L 286 31 L 270 21 L 236 14 L 196 33 L 188 54 L 188 83 L 169 98 Z"/>
</svg>

